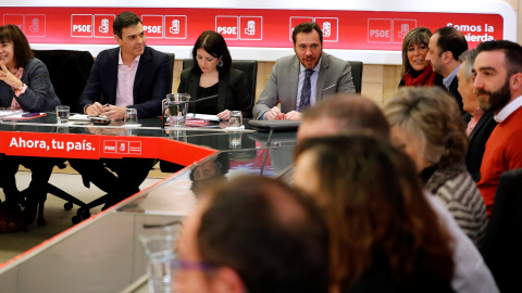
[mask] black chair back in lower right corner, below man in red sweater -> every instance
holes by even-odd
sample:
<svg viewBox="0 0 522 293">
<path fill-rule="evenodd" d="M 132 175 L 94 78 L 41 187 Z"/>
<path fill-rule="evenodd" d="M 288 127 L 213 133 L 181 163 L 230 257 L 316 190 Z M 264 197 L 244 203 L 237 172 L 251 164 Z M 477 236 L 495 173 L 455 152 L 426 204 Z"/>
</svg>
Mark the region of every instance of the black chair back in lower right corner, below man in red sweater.
<svg viewBox="0 0 522 293">
<path fill-rule="evenodd" d="M 481 253 L 500 292 L 520 292 L 522 168 L 500 177 Z"/>
</svg>

